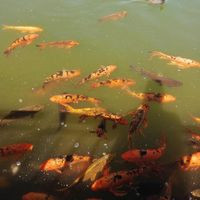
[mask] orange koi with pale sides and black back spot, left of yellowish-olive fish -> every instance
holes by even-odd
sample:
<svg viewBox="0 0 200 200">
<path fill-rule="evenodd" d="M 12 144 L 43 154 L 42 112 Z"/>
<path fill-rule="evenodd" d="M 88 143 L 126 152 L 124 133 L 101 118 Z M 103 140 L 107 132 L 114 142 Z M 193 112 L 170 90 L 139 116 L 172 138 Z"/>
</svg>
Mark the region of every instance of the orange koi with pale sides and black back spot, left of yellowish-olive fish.
<svg viewBox="0 0 200 200">
<path fill-rule="evenodd" d="M 89 156 L 79 156 L 76 154 L 64 155 L 57 158 L 50 158 L 40 165 L 40 170 L 41 171 L 55 171 L 58 173 L 62 173 L 61 170 L 64 167 L 70 166 L 80 161 L 89 161 L 90 159 L 91 157 Z"/>
</svg>

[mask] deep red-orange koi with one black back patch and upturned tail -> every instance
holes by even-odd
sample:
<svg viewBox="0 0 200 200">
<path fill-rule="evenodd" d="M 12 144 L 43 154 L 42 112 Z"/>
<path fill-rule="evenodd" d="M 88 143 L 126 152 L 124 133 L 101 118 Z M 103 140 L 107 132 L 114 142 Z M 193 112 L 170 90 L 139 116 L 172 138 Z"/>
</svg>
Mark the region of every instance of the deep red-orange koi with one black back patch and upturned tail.
<svg viewBox="0 0 200 200">
<path fill-rule="evenodd" d="M 131 149 L 121 155 L 123 160 L 132 163 L 143 163 L 158 160 L 166 149 L 166 141 L 161 141 L 161 146 L 157 149 Z"/>
</svg>

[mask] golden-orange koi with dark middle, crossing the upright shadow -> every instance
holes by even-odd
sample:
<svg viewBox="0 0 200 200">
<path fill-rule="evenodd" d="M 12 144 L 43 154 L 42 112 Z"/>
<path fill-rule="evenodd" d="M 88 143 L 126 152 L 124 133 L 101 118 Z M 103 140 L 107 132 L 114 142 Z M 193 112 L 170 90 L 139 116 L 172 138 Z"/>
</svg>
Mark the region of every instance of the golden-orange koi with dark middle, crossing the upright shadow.
<svg viewBox="0 0 200 200">
<path fill-rule="evenodd" d="M 146 101 L 156 101 L 158 103 L 169 103 L 176 100 L 176 98 L 170 94 L 161 94 L 161 93 L 154 93 L 154 92 L 147 92 L 147 93 L 136 93 L 131 91 L 130 89 L 126 89 L 128 94 L 133 97 L 136 97 L 141 100 Z"/>
</svg>

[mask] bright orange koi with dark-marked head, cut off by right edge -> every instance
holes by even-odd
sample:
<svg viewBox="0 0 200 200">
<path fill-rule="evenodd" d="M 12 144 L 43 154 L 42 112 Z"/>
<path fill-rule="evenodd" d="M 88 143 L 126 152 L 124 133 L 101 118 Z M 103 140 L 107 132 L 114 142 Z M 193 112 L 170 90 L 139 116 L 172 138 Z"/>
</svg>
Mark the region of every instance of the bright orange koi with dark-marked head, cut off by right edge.
<svg viewBox="0 0 200 200">
<path fill-rule="evenodd" d="M 184 171 L 200 169 L 200 152 L 183 156 L 180 159 L 180 168 Z"/>
</svg>

